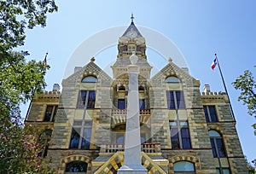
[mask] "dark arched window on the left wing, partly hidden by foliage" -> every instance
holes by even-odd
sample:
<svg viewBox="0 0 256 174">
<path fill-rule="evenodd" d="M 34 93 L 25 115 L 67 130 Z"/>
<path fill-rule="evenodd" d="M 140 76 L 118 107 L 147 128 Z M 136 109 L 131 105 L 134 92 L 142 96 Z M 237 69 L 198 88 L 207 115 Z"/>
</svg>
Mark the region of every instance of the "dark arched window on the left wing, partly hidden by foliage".
<svg viewBox="0 0 256 174">
<path fill-rule="evenodd" d="M 39 143 L 42 144 L 43 150 L 40 153 L 38 153 L 38 156 L 47 156 L 51 133 L 52 130 L 44 130 L 44 132 L 39 136 Z"/>
</svg>

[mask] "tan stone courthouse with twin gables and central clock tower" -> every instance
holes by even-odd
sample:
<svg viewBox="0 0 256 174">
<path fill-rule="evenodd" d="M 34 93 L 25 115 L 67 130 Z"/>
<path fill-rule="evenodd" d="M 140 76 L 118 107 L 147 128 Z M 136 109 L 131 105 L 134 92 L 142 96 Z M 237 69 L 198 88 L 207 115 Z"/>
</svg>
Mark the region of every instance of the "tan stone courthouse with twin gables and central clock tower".
<svg viewBox="0 0 256 174">
<path fill-rule="evenodd" d="M 133 19 L 118 43 L 113 77 L 94 58 L 36 94 L 26 123 L 38 126 L 40 153 L 59 173 L 117 173 L 124 164 L 127 66 L 140 67 L 138 92 L 142 165 L 148 173 L 247 173 L 229 100 L 170 59 L 154 76 L 146 40 Z"/>
</svg>

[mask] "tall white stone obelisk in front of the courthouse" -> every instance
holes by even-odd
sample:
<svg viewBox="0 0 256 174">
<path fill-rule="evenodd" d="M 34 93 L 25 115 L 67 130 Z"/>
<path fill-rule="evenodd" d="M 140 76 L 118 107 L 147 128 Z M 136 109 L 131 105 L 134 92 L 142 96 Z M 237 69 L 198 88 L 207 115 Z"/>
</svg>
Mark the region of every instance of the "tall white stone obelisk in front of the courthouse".
<svg viewBox="0 0 256 174">
<path fill-rule="evenodd" d="M 135 51 L 130 56 L 131 65 L 128 66 L 129 91 L 127 102 L 126 131 L 125 131 L 125 162 L 118 174 L 148 173 L 142 165 L 141 134 L 140 134 L 140 110 L 138 96 L 138 57 Z"/>
</svg>

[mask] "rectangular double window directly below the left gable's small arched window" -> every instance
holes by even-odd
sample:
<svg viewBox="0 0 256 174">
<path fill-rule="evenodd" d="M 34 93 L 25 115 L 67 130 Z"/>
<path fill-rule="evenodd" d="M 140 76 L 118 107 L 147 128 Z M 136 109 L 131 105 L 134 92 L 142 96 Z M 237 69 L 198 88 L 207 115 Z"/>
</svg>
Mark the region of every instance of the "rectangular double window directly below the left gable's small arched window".
<svg viewBox="0 0 256 174">
<path fill-rule="evenodd" d="M 89 108 L 95 107 L 96 91 L 94 90 L 80 90 L 77 108 Z"/>
</svg>

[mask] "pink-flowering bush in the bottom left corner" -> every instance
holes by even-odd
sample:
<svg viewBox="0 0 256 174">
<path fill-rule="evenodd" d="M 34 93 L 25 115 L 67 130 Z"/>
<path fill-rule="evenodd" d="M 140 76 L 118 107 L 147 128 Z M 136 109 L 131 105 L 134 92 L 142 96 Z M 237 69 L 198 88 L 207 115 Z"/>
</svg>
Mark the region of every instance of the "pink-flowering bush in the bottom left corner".
<svg viewBox="0 0 256 174">
<path fill-rule="evenodd" d="M 13 119 L 12 121 L 17 121 Z M 34 136 L 36 128 L 0 121 L 0 173 L 56 173 L 40 154 L 44 146 Z"/>
</svg>

